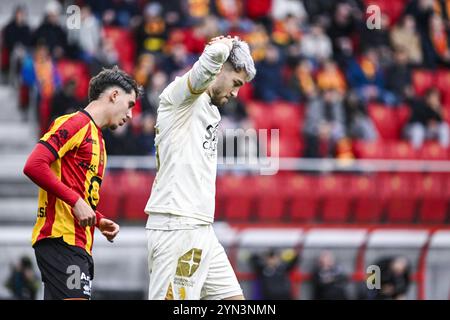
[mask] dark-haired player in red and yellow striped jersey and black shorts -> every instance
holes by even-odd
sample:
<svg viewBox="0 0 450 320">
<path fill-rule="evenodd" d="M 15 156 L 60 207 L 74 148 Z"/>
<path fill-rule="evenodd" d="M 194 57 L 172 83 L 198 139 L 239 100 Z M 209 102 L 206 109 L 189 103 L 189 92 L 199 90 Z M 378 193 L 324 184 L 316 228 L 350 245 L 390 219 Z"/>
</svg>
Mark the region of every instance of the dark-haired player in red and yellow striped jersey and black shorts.
<svg viewBox="0 0 450 320">
<path fill-rule="evenodd" d="M 44 299 L 90 298 L 94 229 L 111 242 L 119 232 L 96 211 L 106 167 L 101 130 L 131 119 L 139 91 L 117 67 L 103 70 L 89 83 L 88 106 L 57 118 L 25 164 L 24 173 L 40 187 L 32 245 Z M 80 279 L 69 286 L 73 272 Z"/>
</svg>

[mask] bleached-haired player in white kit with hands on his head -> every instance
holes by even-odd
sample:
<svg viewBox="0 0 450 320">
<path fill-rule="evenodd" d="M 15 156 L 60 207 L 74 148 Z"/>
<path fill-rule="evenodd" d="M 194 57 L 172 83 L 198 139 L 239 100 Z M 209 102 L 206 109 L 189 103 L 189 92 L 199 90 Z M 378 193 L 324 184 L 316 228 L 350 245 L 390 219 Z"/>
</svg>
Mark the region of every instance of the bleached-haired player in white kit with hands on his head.
<svg viewBox="0 0 450 320">
<path fill-rule="evenodd" d="M 145 207 L 151 300 L 244 299 L 212 227 L 217 107 L 255 74 L 247 43 L 220 36 L 159 97 L 158 171 Z"/>
</svg>

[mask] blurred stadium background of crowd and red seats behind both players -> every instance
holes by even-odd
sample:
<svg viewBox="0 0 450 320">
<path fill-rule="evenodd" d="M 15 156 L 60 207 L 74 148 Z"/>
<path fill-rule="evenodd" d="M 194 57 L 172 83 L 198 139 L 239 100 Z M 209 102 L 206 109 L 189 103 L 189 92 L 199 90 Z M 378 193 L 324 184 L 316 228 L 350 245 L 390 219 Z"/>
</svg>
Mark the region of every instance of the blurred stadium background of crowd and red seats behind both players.
<svg viewBox="0 0 450 320">
<path fill-rule="evenodd" d="M 145 94 L 129 125 L 104 132 L 99 210 L 122 229 L 114 244 L 96 236 L 93 298 L 145 299 L 158 95 L 220 34 L 249 43 L 257 75 L 220 109 L 219 154 L 262 159 L 257 136 L 223 152 L 242 134 L 227 129 L 279 129 L 265 144 L 279 150 L 277 174 L 219 165 L 215 228 L 246 297 L 450 298 L 449 0 L 0 8 L 0 298 L 42 298 L 26 157 L 54 118 L 86 105 L 90 77 L 117 64 Z"/>
</svg>

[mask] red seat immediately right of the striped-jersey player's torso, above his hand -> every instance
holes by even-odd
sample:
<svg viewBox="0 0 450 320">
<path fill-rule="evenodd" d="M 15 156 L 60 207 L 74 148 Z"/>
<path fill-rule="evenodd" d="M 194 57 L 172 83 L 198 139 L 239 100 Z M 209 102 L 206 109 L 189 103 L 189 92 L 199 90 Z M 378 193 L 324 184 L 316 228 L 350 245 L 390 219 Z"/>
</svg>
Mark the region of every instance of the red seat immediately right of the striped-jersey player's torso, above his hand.
<svg viewBox="0 0 450 320">
<path fill-rule="evenodd" d="M 100 202 L 97 210 L 110 219 L 119 218 L 122 203 L 122 189 L 117 174 L 107 171 L 100 188 Z"/>
</svg>

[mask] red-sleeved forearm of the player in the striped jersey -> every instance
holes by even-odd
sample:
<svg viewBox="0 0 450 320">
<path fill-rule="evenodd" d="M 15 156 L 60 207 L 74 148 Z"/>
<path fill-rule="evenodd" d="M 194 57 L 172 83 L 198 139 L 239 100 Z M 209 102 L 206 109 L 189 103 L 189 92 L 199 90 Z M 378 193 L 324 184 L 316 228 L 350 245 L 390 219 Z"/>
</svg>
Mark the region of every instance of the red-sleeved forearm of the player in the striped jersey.
<svg viewBox="0 0 450 320">
<path fill-rule="evenodd" d="M 23 173 L 39 187 L 73 207 L 80 195 L 62 183 L 50 169 L 55 156 L 42 144 L 37 144 L 23 169 Z"/>
</svg>

